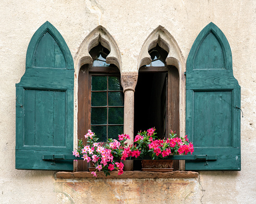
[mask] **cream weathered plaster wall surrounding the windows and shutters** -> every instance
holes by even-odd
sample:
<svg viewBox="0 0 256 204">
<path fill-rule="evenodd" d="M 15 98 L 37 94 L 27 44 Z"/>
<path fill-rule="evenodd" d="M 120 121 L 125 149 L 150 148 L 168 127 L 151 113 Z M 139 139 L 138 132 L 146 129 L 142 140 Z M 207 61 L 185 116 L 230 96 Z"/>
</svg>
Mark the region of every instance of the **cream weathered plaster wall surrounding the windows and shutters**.
<svg viewBox="0 0 256 204">
<path fill-rule="evenodd" d="M 7 0 L 0 3 L 0 18 L 1 203 L 79 203 L 85 198 L 88 200 L 84 202 L 92 203 L 255 202 L 255 1 Z M 15 170 L 15 83 L 25 72 L 29 41 L 46 20 L 60 31 L 73 57 L 90 31 L 98 25 L 104 26 L 120 49 L 124 72 L 137 70 L 142 45 L 159 25 L 174 37 L 186 60 L 199 32 L 211 21 L 215 23 L 230 43 L 233 73 L 241 86 L 242 171 L 200 172 L 200 182 L 199 179 L 100 179 L 83 180 L 83 183 L 81 180 L 56 181 L 54 172 Z M 76 132 L 76 122 L 74 130 Z M 78 200 L 68 200 L 69 190 L 63 186 L 77 188 Z M 106 195 L 105 186 L 111 186 L 116 192 Z M 90 195 L 83 189 L 89 189 Z M 93 195 L 97 195 L 97 199 L 93 199 Z M 101 195 L 105 200 L 100 199 Z M 159 199 L 162 195 L 166 200 Z"/>
</svg>

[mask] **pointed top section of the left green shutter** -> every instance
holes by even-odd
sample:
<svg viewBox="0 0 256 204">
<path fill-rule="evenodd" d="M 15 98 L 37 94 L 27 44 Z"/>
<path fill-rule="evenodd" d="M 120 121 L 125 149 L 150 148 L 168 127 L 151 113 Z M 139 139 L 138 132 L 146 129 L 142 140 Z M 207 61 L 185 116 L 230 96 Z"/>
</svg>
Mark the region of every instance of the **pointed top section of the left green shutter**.
<svg viewBox="0 0 256 204">
<path fill-rule="evenodd" d="M 31 38 L 26 52 L 26 67 L 74 69 L 70 49 L 49 21 L 42 24 Z"/>
</svg>

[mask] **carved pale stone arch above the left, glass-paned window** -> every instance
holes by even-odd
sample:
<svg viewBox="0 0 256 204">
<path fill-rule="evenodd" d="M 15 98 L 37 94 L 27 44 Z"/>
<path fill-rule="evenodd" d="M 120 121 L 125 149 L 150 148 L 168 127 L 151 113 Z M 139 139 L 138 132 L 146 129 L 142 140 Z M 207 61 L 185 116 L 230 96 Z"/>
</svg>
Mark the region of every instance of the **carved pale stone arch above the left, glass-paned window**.
<svg viewBox="0 0 256 204">
<path fill-rule="evenodd" d="M 109 32 L 103 26 L 99 25 L 83 40 L 76 56 L 74 57 L 77 74 L 79 73 L 79 69 L 82 65 L 93 63 L 93 59 L 90 56 L 89 51 L 93 47 L 97 46 L 99 42 L 110 51 L 106 57 L 106 63 L 115 64 L 121 71 L 121 54 L 118 45 Z"/>
</svg>

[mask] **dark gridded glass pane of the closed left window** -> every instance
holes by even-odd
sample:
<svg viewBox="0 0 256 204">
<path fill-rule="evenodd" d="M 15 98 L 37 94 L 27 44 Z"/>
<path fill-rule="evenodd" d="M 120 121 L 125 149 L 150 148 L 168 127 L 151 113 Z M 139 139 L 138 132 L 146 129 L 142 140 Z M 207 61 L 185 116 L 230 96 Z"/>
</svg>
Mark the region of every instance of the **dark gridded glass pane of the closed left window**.
<svg viewBox="0 0 256 204">
<path fill-rule="evenodd" d="M 97 97 L 92 97 L 91 101 L 91 112 L 98 113 L 97 115 L 91 114 L 91 129 L 92 130 L 102 130 L 102 134 L 99 136 L 100 140 L 108 140 L 109 137 L 112 137 L 113 139 L 117 137 L 118 134 L 115 131 L 123 131 L 124 126 L 124 95 L 122 92 L 122 87 L 120 84 L 120 80 L 116 76 L 110 76 L 107 75 L 106 77 L 106 89 L 104 90 L 101 84 L 98 84 L 97 82 L 97 75 L 92 76 L 92 91 L 91 94 L 94 96 L 103 96 L 106 97 L 106 100 L 101 97 L 100 100 L 104 102 L 97 101 Z M 102 82 L 102 77 L 99 78 L 100 82 Z M 111 80 L 111 88 L 110 88 L 110 82 Z M 105 80 L 103 81 L 105 83 Z M 99 90 L 97 90 L 97 87 L 99 87 Z M 111 90 L 110 90 L 111 89 Z M 113 90 L 114 89 L 114 90 Z M 102 93 L 102 94 L 101 94 Z M 106 93 L 106 94 L 104 94 Z M 95 95 L 97 94 L 97 95 Z M 102 106 L 103 104 L 103 106 Z M 106 106 L 104 106 L 106 104 Z M 99 106 L 100 105 L 100 106 Z M 106 115 L 100 114 L 100 111 L 98 112 L 97 109 L 106 108 Z M 111 110 L 110 110 L 111 109 Z M 104 109 L 102 109 L 104 110 Z M 112 114 L 111 114 L 112 113 Z M 113 114 L 115 113 L 115 114 Z M 109 115 L 111 114 L 111 115 Z M 106 117 L 106 118 L 105 118 Z M 105 119 L 103 119 L 105 118 Z M 106 121 L 106 123 L 104 122 Z M 103 122 L 103 124 L 101 123 Z M 111 122 L 111 124 L 110 124 Z M 98 127 L 98 128 L 97 128 Z M 104 128 L 105 127 L 105 128 Z M 111 129 L 110 129 L 111 127 Z M 111 133 L 110 133 L 111 132 Z M 97 134 L 97 132 L 96 132 Z M 106 134 L 106 136 L 104 136 Z M 109 135 L 111 134 L 111 135 Z M 116 138 L 115 138 L 116 139 Z"/>
</svg>

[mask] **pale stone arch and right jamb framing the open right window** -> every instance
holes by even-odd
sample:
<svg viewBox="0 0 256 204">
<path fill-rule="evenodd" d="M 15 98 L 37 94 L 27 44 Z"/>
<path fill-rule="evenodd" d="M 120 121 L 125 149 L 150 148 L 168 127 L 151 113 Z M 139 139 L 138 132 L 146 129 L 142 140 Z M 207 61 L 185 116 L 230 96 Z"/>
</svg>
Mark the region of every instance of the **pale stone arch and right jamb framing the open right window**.
<svg viewBox="0 0 256 204">
<path fill-rule="evenodd" d="M 142 45 L 140 56 L 138 58 L 138 67 L 140 69 L 143 65 L 151 63 L 151 57 L 148 51 L 156 47 L 156 45 L 162 47 L 168 52 L 166 58 L 167 65 L 174 65 L 179 71 L 179 118 L 180 118 L 180 136 L 185 134 L 185 59 L 182 51 L 180 50 L 178 43 L 174 37 L 163 27 L 158 26 L 147 37 L 146 41 Z M 140 74 L 138 75 L 140 79 Z"/>
</svg>

